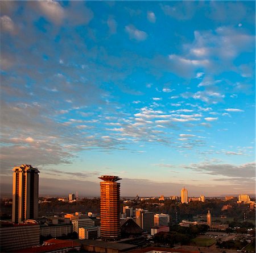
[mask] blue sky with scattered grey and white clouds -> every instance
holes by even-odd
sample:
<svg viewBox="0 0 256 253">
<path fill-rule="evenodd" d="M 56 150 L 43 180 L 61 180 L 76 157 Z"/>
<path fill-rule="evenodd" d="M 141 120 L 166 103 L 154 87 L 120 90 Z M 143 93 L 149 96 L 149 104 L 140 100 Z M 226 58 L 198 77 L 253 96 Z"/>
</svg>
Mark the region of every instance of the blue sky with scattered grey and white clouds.
<svg viewBox="0 0 256 253">
<path fill-rule="evenodd" d="M 1 1 L 1 191 L 255 193 L 254 1 Z"/>
</svg>

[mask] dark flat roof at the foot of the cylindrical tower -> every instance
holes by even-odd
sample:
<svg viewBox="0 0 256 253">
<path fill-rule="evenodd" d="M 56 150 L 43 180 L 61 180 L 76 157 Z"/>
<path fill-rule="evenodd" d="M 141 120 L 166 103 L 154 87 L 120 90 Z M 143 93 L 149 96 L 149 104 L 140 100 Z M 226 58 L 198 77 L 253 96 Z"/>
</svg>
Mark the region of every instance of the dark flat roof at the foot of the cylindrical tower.
<svg viewBox="0 0 256 253">
<path fill-rule="evenodd" d="M 79 240 L 82 245 L 86 246 L 96 246 L 102 248 L 111 248 L 113 250 L 131 250 L 136 248 L 137 245 L 127 244 L 127 243 L 118 243 L 118 242 L 105 242 L 104 240 Z"/>
</svg>

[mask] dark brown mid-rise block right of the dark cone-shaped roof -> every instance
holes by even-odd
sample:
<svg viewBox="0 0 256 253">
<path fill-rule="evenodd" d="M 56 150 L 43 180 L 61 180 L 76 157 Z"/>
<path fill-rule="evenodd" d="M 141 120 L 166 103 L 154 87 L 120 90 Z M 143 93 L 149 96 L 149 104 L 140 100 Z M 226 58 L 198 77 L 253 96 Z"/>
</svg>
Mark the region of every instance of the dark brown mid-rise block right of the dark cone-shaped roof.
<svg viewBox="0 0 256 253">
<path fill-rule="evenodd" d="M 136 223 L 144 232 L 150 233 L 151 227 L 154 227 L 154 213 L 151 211 L 136 209 Z"/>
</svg>

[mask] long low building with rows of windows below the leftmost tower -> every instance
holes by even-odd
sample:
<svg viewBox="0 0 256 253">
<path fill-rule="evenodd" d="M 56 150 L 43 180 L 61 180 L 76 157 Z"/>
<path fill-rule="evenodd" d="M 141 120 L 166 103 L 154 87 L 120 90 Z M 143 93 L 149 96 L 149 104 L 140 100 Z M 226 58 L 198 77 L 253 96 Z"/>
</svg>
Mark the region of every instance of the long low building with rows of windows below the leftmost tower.
<svg viewBox="0 0 256 253">
<path fill-rule="evenodd" d="M 1 252 L 13 252 L 22 248 L 40 245 L 40 228 L 38 224 L 15 224 L 1 222 Z"/>
</svg>

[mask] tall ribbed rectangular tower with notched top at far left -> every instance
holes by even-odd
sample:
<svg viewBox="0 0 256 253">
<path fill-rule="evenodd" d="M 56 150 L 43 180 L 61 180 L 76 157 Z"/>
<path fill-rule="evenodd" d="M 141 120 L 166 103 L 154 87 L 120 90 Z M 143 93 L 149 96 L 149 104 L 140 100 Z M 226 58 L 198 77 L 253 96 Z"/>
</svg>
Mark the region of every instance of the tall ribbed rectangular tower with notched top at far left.
<svg viewBox="0 0 256 253">
<path fill-rule="evenodd" d="M 13 215 L 15 223 L 38 218 L 39 171 L 31 165 L 13 168 Z"/>
</svg>

